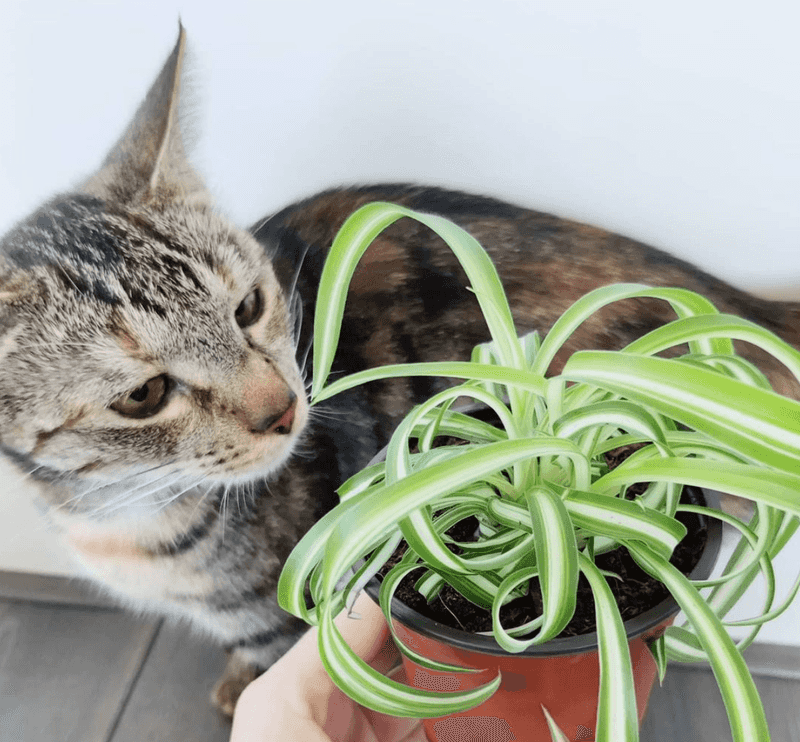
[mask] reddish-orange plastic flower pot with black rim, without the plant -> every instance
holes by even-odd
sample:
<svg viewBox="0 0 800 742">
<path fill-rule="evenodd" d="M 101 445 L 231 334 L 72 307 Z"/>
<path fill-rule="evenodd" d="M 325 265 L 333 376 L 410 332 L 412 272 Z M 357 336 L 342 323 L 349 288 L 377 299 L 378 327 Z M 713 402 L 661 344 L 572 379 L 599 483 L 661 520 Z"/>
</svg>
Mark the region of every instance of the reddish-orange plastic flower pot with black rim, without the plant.
<svg viewBox="0 0 800 742">
<path fill-rule="evenodd" d="M 718 507 L 719 498 L 714 493 L 697 494 L 701 502 L 705 500 Z M 708 539 L 700 561 L 691 572 L 692 579 L 708 577 L 719 553 L 721 525 L 714 519 L 703 520 Z M 377 582 L 367 586 L 367 592 L 375 600 L 378 589 Z M 640 723 L 657 674 L 648 641 L 660 636 L 678 611 L 677 603 L 670 597 L 625 624 Z M 567 739 L 594 740 L 600 685 L 596 633 L 557 638 L 519 654 L 509 654 L 491 636 L 450 628 L 397 599 L 392 605 L 392 617 L 400 641 L 423 656 L 480 670 L 434 672 L 403 656 L 406 675 L 414 687 L 444 692 L 464 690 L 502 673 L 500 688 L 485 703 L 449 717 L 427 719 L 425 730 L 430 742 L 550 742 L 542 706 Z"/>
</svg>

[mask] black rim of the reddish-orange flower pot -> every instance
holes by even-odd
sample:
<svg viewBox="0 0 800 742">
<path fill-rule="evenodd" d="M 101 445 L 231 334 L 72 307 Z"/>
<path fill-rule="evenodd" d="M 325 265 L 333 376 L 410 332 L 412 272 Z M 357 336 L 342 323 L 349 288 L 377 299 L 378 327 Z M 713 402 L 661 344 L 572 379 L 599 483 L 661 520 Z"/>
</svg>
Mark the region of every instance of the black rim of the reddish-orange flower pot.
<svg viewBox="0 0 800 742">
<path fill-rule="evenodd" d="M 700 490 L 695 487 L 687 487 L 688 490 L 697 495 L 697 499 L 713 509 L 719 509 L 720 496 L 713 490 Z M 708 537 L 700 561 L 691 571 L 689 578 L 692 580 L 705 580 L 709 577 L 719 556 L 722 543 L 722 523 L 717 518 L 709 518 L 704 515 L 698 516 L 706 525 Z M 364 588 L 367 594 L 377 603 L 380 582 L 373 578 Z M 675 599 L 670 595 L 661 603 L 653 606 L 650 610 L 639 614 L 635 618 L 625 622 L 625 632 L 628 639 L 647 633 L 656 628 L 671 616 L 680 611 Z M 392 617 L 413 629 L 419 634 L 429 638 L 437 639 L 445 644 L 466 649 L 471 652 L 481 654 L 514 656 L 514 657 L 553 657 L 558 655 L 583 654 L 597 650 L 597 632 L 592 631 L 588 634 L 569 636 L 565 638 L 551 639 L 545 644 L 528 647 L 522 652 L 510 653 L 503 649 L 493 636 L 486 634 L 470 634 L 460 631 L 450 626 L 446 626 L 438 621 L 434 621 L 427 616 L 417 613 L 413 608 L 409 608 L 399 600 L 392 600 Z"/>
</svg>

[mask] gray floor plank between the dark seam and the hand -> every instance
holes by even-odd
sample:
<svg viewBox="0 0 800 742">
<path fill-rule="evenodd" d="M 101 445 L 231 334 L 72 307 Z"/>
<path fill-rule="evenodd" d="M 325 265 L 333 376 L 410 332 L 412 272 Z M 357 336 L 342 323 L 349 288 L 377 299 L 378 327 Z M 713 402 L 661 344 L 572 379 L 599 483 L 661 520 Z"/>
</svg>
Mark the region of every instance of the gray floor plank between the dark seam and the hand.
<svg viewBox="0 0 800 742">
<path fill-rule="evenodd" d="M 227 742 L 230 724 L 209 702 L 224 666 L 219 647 L 163 626 L 111 742 Z"/>
</svg>

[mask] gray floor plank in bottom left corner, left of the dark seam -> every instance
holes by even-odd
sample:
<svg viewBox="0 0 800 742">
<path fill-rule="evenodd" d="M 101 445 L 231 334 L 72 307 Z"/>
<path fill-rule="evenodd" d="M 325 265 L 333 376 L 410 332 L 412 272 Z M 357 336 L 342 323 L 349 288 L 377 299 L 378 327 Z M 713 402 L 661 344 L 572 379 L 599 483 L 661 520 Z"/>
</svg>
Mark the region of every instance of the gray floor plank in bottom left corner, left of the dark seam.
<svg viewBox="0 0 800 742">
<path fill-rule="evenodd" d="M 106 742 L 157 631 L 115 610 L 0 602 L 0 742 Z"/>
</svg>

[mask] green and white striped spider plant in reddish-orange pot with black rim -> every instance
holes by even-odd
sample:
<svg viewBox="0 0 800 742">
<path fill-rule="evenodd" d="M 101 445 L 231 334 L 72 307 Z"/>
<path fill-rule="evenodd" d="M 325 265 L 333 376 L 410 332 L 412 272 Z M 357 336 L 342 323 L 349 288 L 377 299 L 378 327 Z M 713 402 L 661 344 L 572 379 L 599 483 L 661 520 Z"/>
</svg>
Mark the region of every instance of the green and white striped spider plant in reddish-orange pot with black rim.
<svg viewBox="0 0 800 742">
<path fill-rule="evenodd" d="M 401 217 L 434 229 L 455 252 L 492 341 L 476 348 L 469 363 L 382 367 L 326 386 L 350 277 L 371 241 Z M 577 352 L 561 373 L 546 375 L 583 321 L 614 301 L 639 296 L 669 302 L 677 319 L 623 351 Z M 396 376 L 439 375 L 462 383 L 408 414 L 383 461 L 341 487 L 340 504 L 311 529 L 285 565 L 279 602 L 319 625 L 321 657 L 336 684 L 375 710 L 438 719 L 438 727 L 433 721 L 427 726 L 432 740 L 469 739 L 467 726 L 454 733 L 458 727 L 442 725 L 449 714 L 461 718 L 479 707 L 472 713 L 484 720 L 499 717 L 485 704 L 502 686 L 497 695 L 505 693 L 506 704 L 510 699 L 522 707 L 527 719 L 501 720 L 505 726 L 496 730 L 498 740 L 545 739 L 543 729 L 553 739 L 566 739 L 561 727 L 570 729 L 572 739 L 624 742 L 638 738 L 649 694 L 649 686 L 636 689 L 635 675 L 649 676 L 645 685 L 652 685 L 656 665 L 663 674 L 668 659 L 707 659 L 734 740 L 767 740 L 763 708 L 741 650 L 797 592 L 796 584 L 781 605 L 773 605 L 771 560 L 799 522 L 800 404 L 773 392 L 763 374 L 735 353 L 733 340 L 759 346 L 800 379 L 800 353 L 682 289 L 604 287 L 576 302 L 546 337 L 518 338 L 493 264 L 456 225 L 392 204 L 370 204 L 350 217 L 331 248 L 319 287 L 312 401 Z M 688 352 L 678 357 L 658 355 L 686 345 Z M 454 409 L 465 397 L 490 409 L 494 424 Z M 452 440 L 435 445 L 443 436 Z M 612 469 L 606 454 L 626 447 L 634 452 Z M 648 484 L 631 495 L 628 487 L 635 483 Z M 686 504 L 681 499 L 685 486 L 747 498 L 755 515 L 745 523 L 706 505 Z M 714 580 L 692 581 L 669 561 L 686 534 L 676 516 L 690 512 L 729 523 L 742 534 L 723 575 Z M 472 519 L 471 537 L 454 536 L 452 529 L 467 519 Z M 631 639 L 629 646 L 609 586 L 619 575 L 598 566 L 603 555 L 620 549 L 674 600 L 666 613 L 649 615 L 640 626 L 649 652 L 641 638 Z M 404 659 L 413 663 L 407 666 L 409 676 L 422 680 L 418 688 L 369 668 L 333 623 L 390 560 L 378 599 Z M 476 637 L 489 657 L 486 664 L 476 664 L 472 654 L 459 649 L 458 638 L 455 650 L 432 656 L 438 650 L 423 636 L 424 622 L 412 617 L 402 625 L 409 612 L 393 596 L 403 578 L 420 569 L 422 576 L 414 582 L 425 601 L 454 589 L 491 614 L 491 631 Z M 752 630 L 737 647 L 723 619 L 759 573 L 767 585 L 764 609 L 749 622 Z M 533 700 L 526 696 L 523 686 L 530 683 L 520 681 L 516 669 L 504 674 L 503 667 L 516 665 L 498 659 L 501 654 L 518 659 L 532 648 L 559 654 L 558 637 L 575 613 L 580 575 L 591 588 L 596 619 L 589 642 L 596 649 L 588 650 L 597 668 L 588 691 L 593 696 L 588 720 L 550 701 L 550 707 L 537 703 L 535 694 Z M 507 625 L 504 608 L 534 588 L 541 595 L 539 615 Z M 707 589 L 700 593 L 700 588 Z M 677 607 L 687 623 L 664 631 Z M 434 627 L 437 631 L 448 633 Z M 461 634 L 462 646 L 470 646 L 469 635 Z M 563 663 L 559 667 L 562 675 L 547 681 L 550 685 L 574 677 L 563 675 Z M 455 679 L 445 672 L 456 673 Z M 480 734 L 475 738 L 491 738 L 486 730 Z"/>
</svg>

